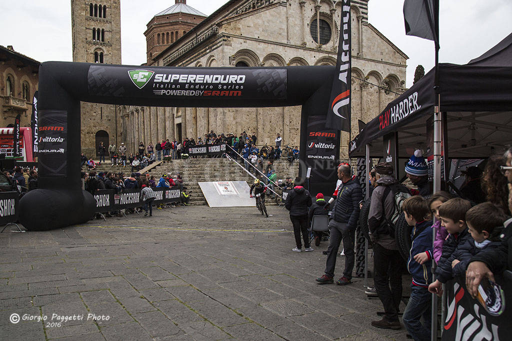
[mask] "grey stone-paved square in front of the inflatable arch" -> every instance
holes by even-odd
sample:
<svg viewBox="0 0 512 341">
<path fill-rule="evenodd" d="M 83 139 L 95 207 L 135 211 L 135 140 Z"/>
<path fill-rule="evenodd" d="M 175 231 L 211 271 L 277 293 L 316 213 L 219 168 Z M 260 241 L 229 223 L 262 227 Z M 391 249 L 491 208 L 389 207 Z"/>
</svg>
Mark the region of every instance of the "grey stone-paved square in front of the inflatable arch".
<svg viewBox="0 0 512 341">
<path fill-rule="evenodd" d="M 0 338 L 406 339 L 403 328 L 371 327 L 382 306 L 366 297 L 362 279 L 316 285 L 327 243 L 292 252 L 287 212 L 268 211 L 196 206 L 46 232 L 8 228 L 0 235 Z M 343 264 L 338 257 L 339 276 Z"/>
</svg>

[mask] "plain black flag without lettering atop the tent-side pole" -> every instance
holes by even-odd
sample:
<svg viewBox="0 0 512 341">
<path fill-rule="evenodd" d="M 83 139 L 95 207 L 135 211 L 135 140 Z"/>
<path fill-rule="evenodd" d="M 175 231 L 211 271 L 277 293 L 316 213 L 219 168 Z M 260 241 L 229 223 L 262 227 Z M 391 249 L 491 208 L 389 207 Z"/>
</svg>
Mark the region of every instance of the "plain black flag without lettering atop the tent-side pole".
<svg viewBox="0 0 512 341">
<path fill-rule="evenodd" d="M 406 22 L 406 34 L 433 40 L 436 46 L 439 40 L 436 34 L 434 2 L 439 0 L 405 0 L 403 19 Z"/>
</svg>

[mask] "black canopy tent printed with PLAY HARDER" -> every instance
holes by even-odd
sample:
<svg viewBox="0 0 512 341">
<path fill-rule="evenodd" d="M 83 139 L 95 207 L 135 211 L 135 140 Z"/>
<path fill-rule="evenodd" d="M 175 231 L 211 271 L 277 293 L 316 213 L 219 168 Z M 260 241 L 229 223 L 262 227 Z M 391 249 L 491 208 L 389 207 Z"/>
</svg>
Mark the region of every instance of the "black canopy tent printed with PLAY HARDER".
<svg viewBox="0 0 512 341">
<path fill-rule="evenodd" d="M 439 85 L 450 158 L 488 157 L 512 143 L 512 33 L 465 65 L 439 64 Z M 383 137 L 393 132 L 399 158 L 415 148 L 428 150 L 434 105 L 431 70 L 362 129 L 351 141 L 350 156 L 364 156 L 369 145 L 369 156 L 382 157 Z"/>
</svg>

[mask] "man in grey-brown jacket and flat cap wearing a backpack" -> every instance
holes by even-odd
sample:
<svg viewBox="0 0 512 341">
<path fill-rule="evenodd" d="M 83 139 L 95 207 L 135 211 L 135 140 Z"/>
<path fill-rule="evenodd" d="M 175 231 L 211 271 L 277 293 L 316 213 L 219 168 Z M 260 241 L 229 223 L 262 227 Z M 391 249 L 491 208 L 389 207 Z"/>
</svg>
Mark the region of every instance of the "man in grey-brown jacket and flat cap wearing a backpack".
<svg viewBox="0 0 512 341">
<path fill-rule="evenodd" d="M 374 252 L 373 280 L 385 311 L 382 320 L 372 321 L 372 326 L 400 329 L 398 306 L 402 298 L 404 261 L 398 252 L 394 223 L 401 213 L 401 203 L 411 195 L 407 187 L 398 183 L 393 172 L 390 163 L 375 166 L 377 186 L 372 192 L 368 214 L 368 229 Z"/>
</svg>

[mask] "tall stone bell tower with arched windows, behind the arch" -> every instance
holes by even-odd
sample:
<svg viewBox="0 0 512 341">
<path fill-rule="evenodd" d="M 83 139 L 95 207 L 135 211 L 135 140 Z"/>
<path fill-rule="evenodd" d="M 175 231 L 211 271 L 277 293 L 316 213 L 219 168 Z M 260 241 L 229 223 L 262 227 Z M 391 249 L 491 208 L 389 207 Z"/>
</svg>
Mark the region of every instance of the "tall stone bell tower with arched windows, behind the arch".
<svg viewBox="0 0 512 341">
<path fill-rule="evenodd" d="M 71 0 L 73 61 L 121 64 L 120 0 Z M 99 143 L 119 146 L 121 113 L 115 105 L 80 102 L 81 151 L 98 157 Z M 107 161 L 108 162 L 108 161 Z"/>
</svg>

